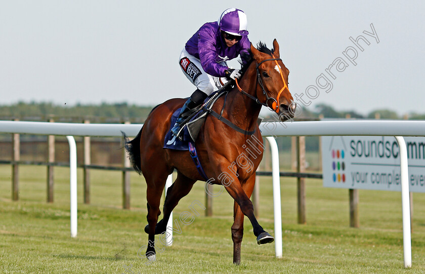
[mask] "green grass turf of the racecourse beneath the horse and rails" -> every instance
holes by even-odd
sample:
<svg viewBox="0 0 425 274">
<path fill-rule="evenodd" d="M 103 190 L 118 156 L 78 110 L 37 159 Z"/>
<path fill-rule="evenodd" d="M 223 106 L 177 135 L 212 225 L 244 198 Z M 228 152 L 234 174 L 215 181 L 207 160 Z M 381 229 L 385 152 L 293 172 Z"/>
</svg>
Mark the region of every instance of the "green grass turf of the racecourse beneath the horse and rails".
<svg viewBox="0 0 425 274">
<path fill-rule="evenodd" d="M 146 265 L 143 177 L 132 173 L 131 210 L 121 208 L 121 174 L 91 171 L 91 205 L 82 203 L 78 173 L 78 236 L 70 238 L 69 170 L 55 168 L 55 202 L 46 203 L 46 168 L 20 167 L 20 200 L 11 201 L 10 166 L 0 165 L 0 273 L 423 273 L 425 194 L 414 193 L 411 269 L 403 268 L 401 194 L 360 190 L 360 228 L 349 227 L 348 190 L 307 180 L 307 224 L 296 223 L 296 181 L 281 179 L 283 258 L 274 243 L 258 246 L 245 219 L 241 265 L 232 264 L 233 202 L 214 198 L 214 216 L 181 225 L 173 246 Z M 215 190 L 218 187 L 215 186 Z M 271 179 L 262 177 L 259 222 L 274 235 Z M 203 184 L 174 211 L 197 200 Z M 161 245 L 162 247 L 162 245 Z M 131 266 L 131 270 L 125 270 Z"/>
</svg>

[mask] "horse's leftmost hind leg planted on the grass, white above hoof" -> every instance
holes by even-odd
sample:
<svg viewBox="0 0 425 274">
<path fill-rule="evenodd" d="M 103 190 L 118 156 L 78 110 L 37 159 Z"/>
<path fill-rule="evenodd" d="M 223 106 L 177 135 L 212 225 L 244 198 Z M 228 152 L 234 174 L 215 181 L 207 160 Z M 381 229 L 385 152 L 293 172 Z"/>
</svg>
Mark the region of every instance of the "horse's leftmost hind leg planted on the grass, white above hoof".
<svg viewBox="0 0 425 274">
<path fill-rule="evenodd" d="M 156 172 L 156 174 L 159 174 Z M 157 178 L 154 178 L 154 175 L 151 175 L 149 177 L 151 178 L 145 178 L 147 183 L 147 190 L 146 190 L 146 198 L 147 198 L 147 207 L 148 207 L 148 225 L 149 225 L 149 237 L 148 237 L 148 248 L 146 250 L 146 257 L 149 259 L 149 261 L 154 261 L 156 258 L 155 255 L 155 226 L 156 222 L 158 221 L 158 216 L 161 214 L 161 211 L 159 210 L 159 203 L 161 200 L 161 194 L 162 190 L 165 186 L 166 181 L 166 173 L 163 173 L 165 175 L 158 175 Z"/>
</svg>

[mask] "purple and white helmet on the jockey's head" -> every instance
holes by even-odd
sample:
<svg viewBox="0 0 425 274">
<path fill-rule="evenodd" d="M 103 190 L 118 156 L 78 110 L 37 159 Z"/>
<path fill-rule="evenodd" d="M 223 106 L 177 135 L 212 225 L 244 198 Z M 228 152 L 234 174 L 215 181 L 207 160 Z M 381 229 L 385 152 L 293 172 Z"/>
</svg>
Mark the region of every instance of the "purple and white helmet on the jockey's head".
<svg viewBox="0 0 425 274">
<path fill-rule="evenodd" d="M 246 25 L 246 14 L 238 9 L 230 8 L 225 10 L 218 21 L 220 29 L 233 35 L 248 35 Z"/>
</svg>

